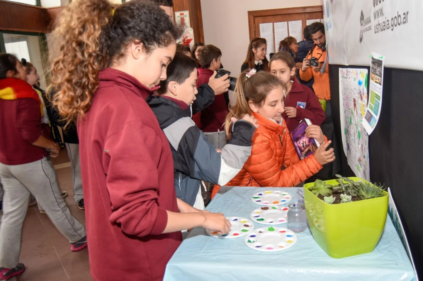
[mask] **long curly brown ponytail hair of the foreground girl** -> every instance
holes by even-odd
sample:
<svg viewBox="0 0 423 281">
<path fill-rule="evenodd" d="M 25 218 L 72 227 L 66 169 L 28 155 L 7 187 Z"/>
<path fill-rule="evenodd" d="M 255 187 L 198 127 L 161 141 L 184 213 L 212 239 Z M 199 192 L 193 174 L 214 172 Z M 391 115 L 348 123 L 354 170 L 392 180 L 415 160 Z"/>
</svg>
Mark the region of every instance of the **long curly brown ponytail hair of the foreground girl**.
<svg viewBox="0 0 423 281">
<path fill-rule="evenodd" d="M 126 46 L 140 42 L 151 52 L 180 35 L 156 3 L 132 0 L 112 8 L 108 0 L 72 1 L 53 32 L 58 54 L 51 67 L 52 103 L 68 124 L 90 109 L 99 72 L 123 59 Z"/>
</svg>

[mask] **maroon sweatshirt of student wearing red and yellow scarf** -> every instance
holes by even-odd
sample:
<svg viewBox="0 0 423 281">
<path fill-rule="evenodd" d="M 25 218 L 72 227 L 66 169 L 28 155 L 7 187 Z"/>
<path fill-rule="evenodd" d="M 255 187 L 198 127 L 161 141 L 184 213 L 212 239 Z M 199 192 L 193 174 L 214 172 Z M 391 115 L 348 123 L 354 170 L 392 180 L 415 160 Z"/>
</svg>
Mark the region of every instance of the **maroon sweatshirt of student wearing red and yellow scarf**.
<svg viewBox="0 0 423 281">
<path fill-rule="evenodd" d="M 14 80 L 32 88 L 23 80 Z M 40 103 L 30 97 L 0 99 L 0 136 L 0 163 L 22 165 L 44 158 L 46 149 L 32 145 L 41 136 Z"/>
</svg>

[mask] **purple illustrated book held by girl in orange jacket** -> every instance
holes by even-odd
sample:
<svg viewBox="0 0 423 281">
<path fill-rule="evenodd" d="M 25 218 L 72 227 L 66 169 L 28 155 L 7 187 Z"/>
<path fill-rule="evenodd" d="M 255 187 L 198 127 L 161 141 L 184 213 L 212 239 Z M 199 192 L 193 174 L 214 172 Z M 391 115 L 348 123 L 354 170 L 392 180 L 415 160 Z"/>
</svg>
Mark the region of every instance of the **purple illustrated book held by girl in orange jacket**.
<svg viewBox="0 0 423 281">
<path fill-rule="evenodd" d="M 305 129 L 311 125 L 309 119 L 303 119 L 299 122 L 297 128 L 291 133 L 292 143 L 294 144 L 295 151 L 297 152 L 300 160 L 313 154 L 320 146 L 320 143 L 314 138 L 307 138 L 305 136 Z"/>
</svg>

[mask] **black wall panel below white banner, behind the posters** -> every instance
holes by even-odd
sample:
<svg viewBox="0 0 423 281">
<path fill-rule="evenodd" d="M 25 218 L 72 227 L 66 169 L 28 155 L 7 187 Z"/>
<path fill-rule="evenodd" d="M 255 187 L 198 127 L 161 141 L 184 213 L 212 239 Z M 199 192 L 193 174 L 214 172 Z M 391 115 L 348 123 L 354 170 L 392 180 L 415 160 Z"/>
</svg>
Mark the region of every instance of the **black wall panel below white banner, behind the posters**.
<svg viewBox="0 0 423 281">
<path fill-rule="evenodd" d="M 333 122 L 341 140 L 339 68 L 366 67 L 330 65 Z M 381 116 L 369 136 L 370 178 L 390 187 L 419 270 L 423 265 L 423 72 L 384 71 Z M 351 176 L 341 152 L 342 173 Z M 422 274 L 420 270 L 419 276 Z"/>
</svg>

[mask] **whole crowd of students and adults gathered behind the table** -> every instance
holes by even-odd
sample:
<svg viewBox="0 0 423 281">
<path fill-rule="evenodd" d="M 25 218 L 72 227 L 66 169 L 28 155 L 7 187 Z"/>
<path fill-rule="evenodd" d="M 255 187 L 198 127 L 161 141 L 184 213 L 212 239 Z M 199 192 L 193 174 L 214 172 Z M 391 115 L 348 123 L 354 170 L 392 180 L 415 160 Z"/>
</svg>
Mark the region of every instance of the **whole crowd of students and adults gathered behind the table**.
<svg viewBox="0 0 423 281">
<path fill-rule="evenodd" d="M 33 65 L 0 54 L 0 280 L 25 270 L 19 252 L 31 195 L 71 251 L 89 246 L 94 280 L 161 280 L 182 233 L 230 228 L 223 214 L 205 211 L 204 194 L 224 185 L 297 186 L 336 169 L 336 141 L 324 127 L 323 24 L 306 27 L 298 44 L 286 38 L 270 61 L 266 40 L 253 39 L 231 107 L 228 76 L 215 78 L 220 49 L 177 45 L 172 0 L 156 2 L 69 4 L 54 32 L 60 51 L 47 91 Z M 307 137 L 321 146 L 300 160 L 289 132 L 305 118 Z M 50 159 L 62 143 L 57 126 L 87 229 L 58 188 Z"/>
</svg>

